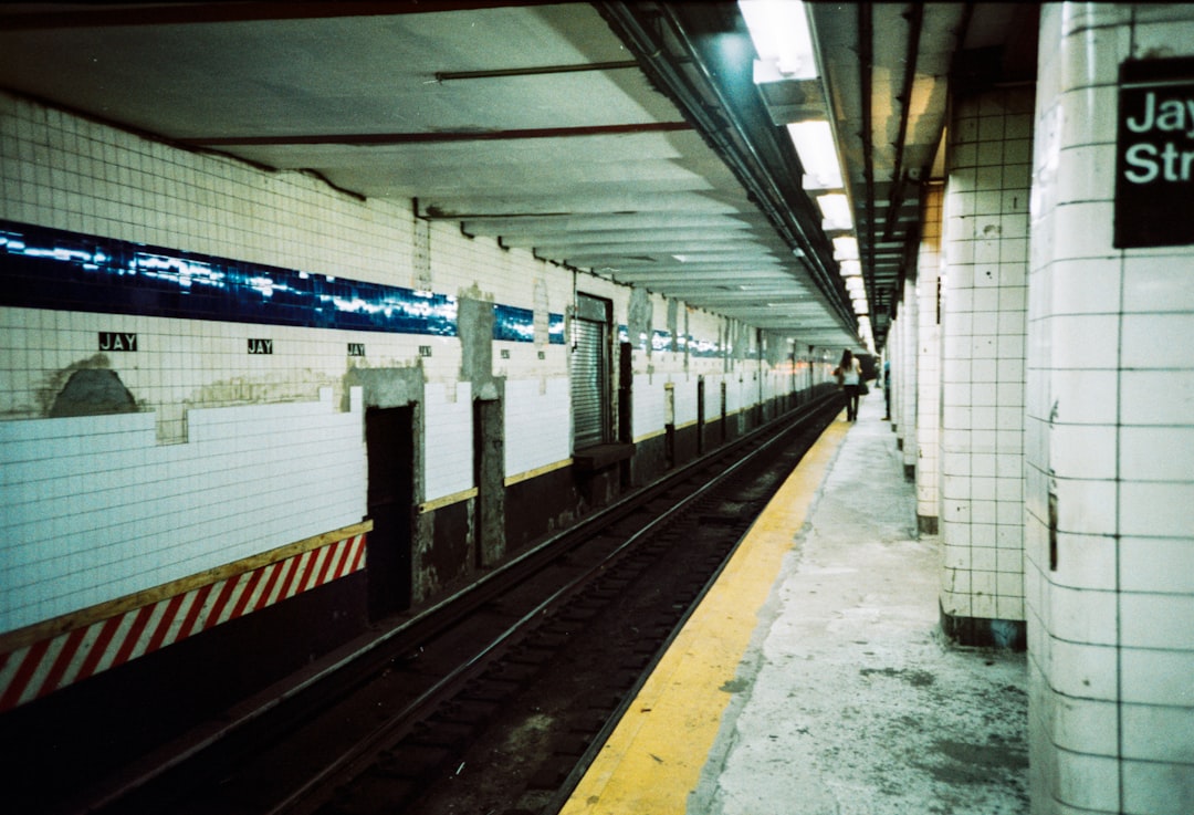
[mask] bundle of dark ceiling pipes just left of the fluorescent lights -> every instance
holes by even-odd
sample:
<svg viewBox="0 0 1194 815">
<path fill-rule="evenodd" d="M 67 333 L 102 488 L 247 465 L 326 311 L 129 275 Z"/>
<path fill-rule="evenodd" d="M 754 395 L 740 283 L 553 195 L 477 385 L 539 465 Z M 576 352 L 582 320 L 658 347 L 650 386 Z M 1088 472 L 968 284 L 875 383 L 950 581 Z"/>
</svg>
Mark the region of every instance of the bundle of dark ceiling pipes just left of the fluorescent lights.
<svg viewBox="0 0 1194 815">
<path fill-rule="evenodd" d="M 845 287 L 836 270 L 826 263 L 827 241 L 823 241 L 824 245 L 818 251 L 810 232 L 800 225 L 790 207 L 786 206 L 787 198 L 783 191 L 777 188 L 774 177 L 767 171 L 768 165 L 758 154 L 758 149 L 753 140 L 749 137 L 743 122 L 732 115 L 733 106 L 725 98 L 724 90 L 714 81 L 700 49 L 688 36 L 684 25 L 676 18 L 675 11 L 666 6 L 650 7 L 656 11 L 652 22 L 658 23 L 666 17 L 671 33 L 684 49 L 684 56 L 706 78 L 708 87 L 716 97 L 720 111 L 708 109 L 700 92 L 690 86 L 682 69 L 669 59 L 661 42 L 658 42 L 654 33 L 648 30 L 648 23 L 640 19 L 640 14 L 650 13 L 644 11 L 647 6 L 627 2 L 599 2 L 596 6 L 611 27 L 618 32 L 630 51 L 653 75 L 653 79 L 663 88 L 666 88 L 681 109 L 696 122 L 701 134 L 714 145 L 714 148 L 734 171 L 755 202 L 781 232 L 788 246 L 799 249 L 808 259 L 807 265 L 813 272 L 813 281 L 842 317 L 843 325 L 857 330 L 857 318 L 853 310 L 847 307 Z M 718 112 L 724 115 L 725 120 L 720 118 Z M 740 146 L 724 134 L 727 124 L 738 136 Z"/>
</svg>

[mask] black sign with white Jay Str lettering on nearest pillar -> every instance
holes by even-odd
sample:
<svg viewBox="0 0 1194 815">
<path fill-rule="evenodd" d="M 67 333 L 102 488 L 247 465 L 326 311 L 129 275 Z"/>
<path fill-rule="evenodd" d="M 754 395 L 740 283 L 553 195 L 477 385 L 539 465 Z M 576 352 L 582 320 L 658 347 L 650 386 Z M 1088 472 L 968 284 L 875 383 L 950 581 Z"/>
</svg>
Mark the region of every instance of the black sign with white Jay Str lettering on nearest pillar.
<svg viewBox="0 0 1194 815">
<path fill-rule="evenodd" d="M 1194 244 L 1194 59 L 1120 66 L 1118 249 Z"/>
</svg>

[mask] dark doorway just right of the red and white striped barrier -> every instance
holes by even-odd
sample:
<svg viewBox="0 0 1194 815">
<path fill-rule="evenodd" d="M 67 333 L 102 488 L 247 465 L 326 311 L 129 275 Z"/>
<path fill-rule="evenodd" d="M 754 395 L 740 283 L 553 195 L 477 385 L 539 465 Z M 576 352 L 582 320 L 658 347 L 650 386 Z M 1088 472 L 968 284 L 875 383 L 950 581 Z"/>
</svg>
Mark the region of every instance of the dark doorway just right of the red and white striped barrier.
<svg viewBox="0 0 1194 815">
<path fill-rule="evenodd" d="M 411 606 L 411 541 L 414 517 L 414 408 L 365 410 L 369 456 L 369 617 Z"/>
</svg>

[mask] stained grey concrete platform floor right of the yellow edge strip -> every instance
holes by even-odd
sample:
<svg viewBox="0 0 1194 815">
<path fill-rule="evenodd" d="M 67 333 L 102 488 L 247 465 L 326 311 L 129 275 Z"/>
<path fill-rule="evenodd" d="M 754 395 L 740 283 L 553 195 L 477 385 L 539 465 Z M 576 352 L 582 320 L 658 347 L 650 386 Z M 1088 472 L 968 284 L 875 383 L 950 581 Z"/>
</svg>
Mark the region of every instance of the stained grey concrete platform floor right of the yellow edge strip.
<svg viewBox="0 0 1194 815">
<path fill-rule="evenodd" d="M 1028 811 L 1024 655 L 941 636 L 940 539 L 917 537 L 882 397 L 798 533 L 688 813 Z"/>
</svg>

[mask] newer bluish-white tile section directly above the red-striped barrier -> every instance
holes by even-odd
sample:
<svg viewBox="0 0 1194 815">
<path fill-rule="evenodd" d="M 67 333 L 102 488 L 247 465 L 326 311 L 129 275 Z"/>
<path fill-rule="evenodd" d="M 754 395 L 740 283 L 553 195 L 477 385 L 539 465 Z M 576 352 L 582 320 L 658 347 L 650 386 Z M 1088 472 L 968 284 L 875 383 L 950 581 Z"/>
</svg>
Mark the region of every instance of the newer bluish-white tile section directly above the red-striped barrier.
<svg viewBox="0 0 1194 815">
<path fill-rule="evenodd" d="M 153 413 L 0 422 L 0 631 L 357 523 L 361 393 Z"/>
</svg>

